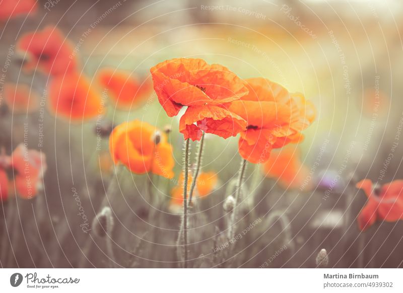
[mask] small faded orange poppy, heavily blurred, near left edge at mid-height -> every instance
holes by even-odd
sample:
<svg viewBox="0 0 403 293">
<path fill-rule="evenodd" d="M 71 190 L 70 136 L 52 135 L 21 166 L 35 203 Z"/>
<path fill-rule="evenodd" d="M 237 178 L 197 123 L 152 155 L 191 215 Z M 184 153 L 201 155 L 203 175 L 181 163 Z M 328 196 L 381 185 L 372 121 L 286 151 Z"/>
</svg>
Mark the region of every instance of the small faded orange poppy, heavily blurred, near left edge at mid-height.
<svg viewBox="0 0 403 293">
<path fill-rule="evenodd" d="M 39 107 L 39 96 L 27 85 L 6 84 L 4 97 L 14 113 L 32 113 Z"/>
</svg>

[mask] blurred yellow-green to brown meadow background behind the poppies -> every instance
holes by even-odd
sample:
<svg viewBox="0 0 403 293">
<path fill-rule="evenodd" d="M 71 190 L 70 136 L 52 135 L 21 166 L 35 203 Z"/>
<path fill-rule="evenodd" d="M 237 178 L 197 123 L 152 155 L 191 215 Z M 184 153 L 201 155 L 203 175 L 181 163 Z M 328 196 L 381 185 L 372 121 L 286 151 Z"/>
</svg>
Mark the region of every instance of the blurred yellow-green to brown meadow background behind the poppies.
<svg viewBox="0 0 403 293">
<path fill-rule="evenodd" d="M 401 1 L 49 0 L 37 5 L 35 15 L 0 24 L 2 67 L 23 34 L 51 24 L 75 46 L 82 72 L 94 84 L 102 67 L 151 79 L 150 67 L 163 60 L 197 57 L 223 64 L 240 78 L 265 77 L 290 92 L 302 92 L 315 104 L 316 121 L 299 146 L 311 188 L 284 190 L 275 180 L 254 176 L 259 166 L 250 165 L 246 184 L 252 186 L 256 177 L 259 184 L 253 190 L 253 212 L 245 209 L 239 227 L 248 227 L 256 218 L 263 224 L 239 240 L 232 261 L 221 266 L 259 267 L 272 258 L 267 267 L 315 267 L 322 248 L 329 256 L 328 267 L 403 266 L 403 224 L 381 223 L 361 233 L 356 217 L 366 196 L 352 183 L 364 178 L 380 181 L 383 173 L 380 183 L 403 178 Z M 46 97 L 48 78 L 25 74 L 18 62 L 8 66 L 6 81 L 28 83 Z M 178 118 L 169 118 L 153 97 L 147 107 L 109 109 L 107 117 L 114 125 L 135 118 L 160 128 L 170 125 L 175 173 L 179 174 Z M 94 122 L 69 124 L 45 111 L 44 143 L 38 147 L 40 111 L 12 115 L 3 109 L 2 113 L 1 137 L 7 152 L 24 140 L 24 123 L 29 123 L 28 144 L 46 154 L 48 167 L 40 196 L 32 202 L 13 199 L 18 217 L 10 220 L 11 202 L 3 203 L 2 266 L 109 266 L 104 241 L 80 228 L 82 218 L 74 196 L 76 190 L 91 223 L 114 178 L 107 137 L 98 150 Z M 190 232 L 194 267 L 220 266 L 212 265 L 212 248 L 220 241 L 217 231 L 225 230 L 222 204 L 239 166 L 237 139 L 207 137 L 203 170 L 215 171 L 219 184 L 193 207 L 198 215 L 191 220 Z M 157 217 L 156 207 L 142 196 L 145 178 L 125 170 L 110 201 L 116 265 L 177 267 L 180 217 L 167 204 L 175 182 L 161 178 L 155 184 L 162 201 Z M 40 218 L 35 217 L 33 206 Z M 149 221 L 152 211 L 154 219 Z M 17 221 L 17 228 L 8 231 L 7 221 Z M 279 254 L 283 245 L 287 249 Z"/>
</svg>

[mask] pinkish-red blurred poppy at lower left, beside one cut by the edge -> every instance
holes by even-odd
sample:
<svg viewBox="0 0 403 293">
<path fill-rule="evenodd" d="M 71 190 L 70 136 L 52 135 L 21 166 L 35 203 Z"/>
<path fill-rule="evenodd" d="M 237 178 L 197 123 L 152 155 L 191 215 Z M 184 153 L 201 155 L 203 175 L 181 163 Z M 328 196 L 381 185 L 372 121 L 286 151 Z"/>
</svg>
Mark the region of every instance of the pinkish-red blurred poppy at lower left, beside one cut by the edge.
<svg viewBox="0 0 403 293">
<path fill-rule="evenodd" d="M 17 194 L 25 199 L 35 197 L 47 168 L 45 155 L 35 150 L 28 150 L 21 143 L 11 156 L 11 164 Z"/>
</svg>

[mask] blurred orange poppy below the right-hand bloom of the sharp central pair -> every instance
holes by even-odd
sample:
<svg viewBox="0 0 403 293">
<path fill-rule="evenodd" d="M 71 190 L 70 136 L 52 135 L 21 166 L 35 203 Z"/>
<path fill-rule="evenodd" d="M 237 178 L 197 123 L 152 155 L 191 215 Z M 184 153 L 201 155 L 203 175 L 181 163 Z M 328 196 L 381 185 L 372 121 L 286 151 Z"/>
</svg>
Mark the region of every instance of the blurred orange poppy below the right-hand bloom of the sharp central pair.
<svg viewBox="0 0 403 293">
<path fill-rule="evenodd" d="M 278 183 L 286 188 L 300 187 L 309 170 L 299 159 L 299 151 L 295 148 L 284 148 L 274 151 L 263 164 L 263 173 L 266 177 L 278 179 Z"/>
</svg>

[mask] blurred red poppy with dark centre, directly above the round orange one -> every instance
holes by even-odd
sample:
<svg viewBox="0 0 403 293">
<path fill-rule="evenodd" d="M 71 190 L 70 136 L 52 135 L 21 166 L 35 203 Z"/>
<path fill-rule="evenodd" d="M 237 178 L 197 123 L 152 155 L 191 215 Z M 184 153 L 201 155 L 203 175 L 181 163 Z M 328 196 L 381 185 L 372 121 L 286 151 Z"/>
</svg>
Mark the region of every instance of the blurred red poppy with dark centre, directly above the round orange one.
<svg viewBox="0 0 403 293">
<path fill-rule="evenodd" d="M 77 70 L 73 45 L 55 27 L 47 26 L 42 31 L 22 36 L 17 47 L 29 53 L 28 60 L 23 63 L 25 70 L 38 67 L 51 76 Z"/>
</svg>

